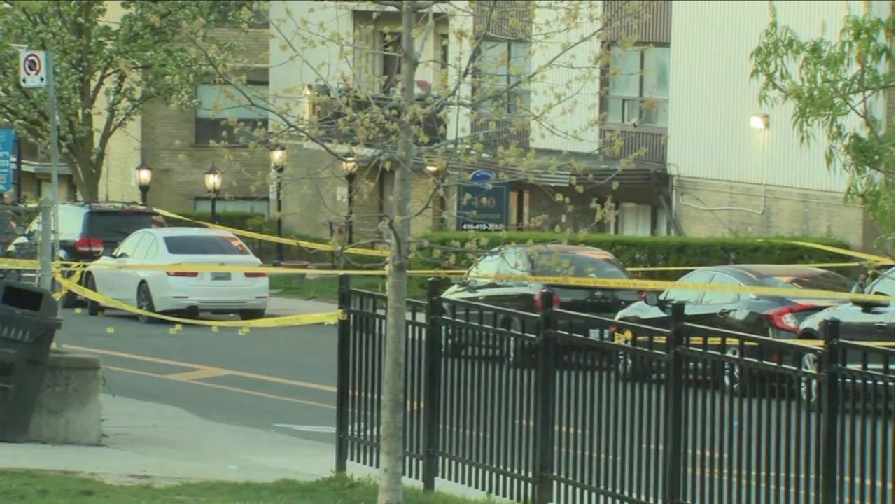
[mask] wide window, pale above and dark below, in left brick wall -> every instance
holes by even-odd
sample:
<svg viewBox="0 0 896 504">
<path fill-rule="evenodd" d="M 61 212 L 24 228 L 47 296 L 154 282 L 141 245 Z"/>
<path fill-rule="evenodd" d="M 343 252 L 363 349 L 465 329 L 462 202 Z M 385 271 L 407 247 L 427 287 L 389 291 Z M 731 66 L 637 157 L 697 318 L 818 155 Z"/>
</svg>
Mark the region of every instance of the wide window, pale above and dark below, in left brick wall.
<svg viewBox="0 0 896 504">
<path fill-rule="evenodd" d="M 267 83 L 202 84 L 196 90 L 195 143 L 248 145 L 268 130 Z M 261 105 L 258 107 L 256 105 Z"/>
</svg>

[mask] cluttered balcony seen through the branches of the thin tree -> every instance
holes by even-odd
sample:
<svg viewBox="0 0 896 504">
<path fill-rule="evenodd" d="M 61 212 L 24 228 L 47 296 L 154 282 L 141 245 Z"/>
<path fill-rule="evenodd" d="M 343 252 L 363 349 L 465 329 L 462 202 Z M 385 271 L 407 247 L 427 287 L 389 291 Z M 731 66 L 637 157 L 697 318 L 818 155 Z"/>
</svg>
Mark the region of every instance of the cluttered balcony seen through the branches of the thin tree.
<svg viewBox="0 0 896 504">
<path fill-rule="evenodd" d="M 360 95 L 348 90 L 325 87 L 306 91 L 308 134 L 323 142 L 341 143 L 368 149 L 397 148 L 401 126 L 401 103 L 395 96 Z M 414 121 L 415 143 L 435 145 L 447 138 L 442 108 L 433 109 L 434 98 L 421 96 L 418 105 L 429 109 L 426 117 Z"/>
</svg>

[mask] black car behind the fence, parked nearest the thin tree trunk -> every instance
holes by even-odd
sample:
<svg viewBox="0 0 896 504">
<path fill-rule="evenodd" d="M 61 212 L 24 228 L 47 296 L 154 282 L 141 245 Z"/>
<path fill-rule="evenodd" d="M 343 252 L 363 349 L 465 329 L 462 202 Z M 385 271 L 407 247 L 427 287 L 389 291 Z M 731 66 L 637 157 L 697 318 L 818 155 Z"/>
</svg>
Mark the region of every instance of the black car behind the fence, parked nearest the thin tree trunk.
<svg viewBox="0 0 896 504">
<path fill-rule="evenodd" d="M 501 247 L 490 250 L 478 259 L 466 276 L 460 279 L 442 295 L 446 301 L 445 311 L 458 319 L 468 319 L 475 323 L 494 325 L 514 332 L 530 333 L 530 328 L 521 327 L 518 317 L 504 314 L 501 310 L 490 311 L 488 307 L 509 308 L 516 311 L 535 313 L 541 311 L 541 292 L 554 291 L 554 306 L 564 310 L 612 318 L 616 312 L 638 300 L 639 291 L 625 291 L 601 287 L 578 287 L 553 285 L 525 280 L 495 280 L 494 275 L 551 276 L 568 278 L 629 279 L 631 275 L 615 256 L 600 248 L 570 245 L 532 245 L 521 247 Z M 460 307 L 452 300 L 473 301 L 476 307 Z M 576 321 L 564 325 L 564 331 L 591 338 L 607 338 L 609 333 L 595 327 L 584 326 Z M 462 333 L 462 334 L 461 334 Z M 490 348 L 504 352 L 504 358 L 521 364 L 529 361 L 531 349 L 511 344 L 506 348 L 495 348 L 495 340 L 484 337 L 478 330 L 445 331 L 444 348 L 450 355 L 460 356 L 470 347 Z"/>
</svg>

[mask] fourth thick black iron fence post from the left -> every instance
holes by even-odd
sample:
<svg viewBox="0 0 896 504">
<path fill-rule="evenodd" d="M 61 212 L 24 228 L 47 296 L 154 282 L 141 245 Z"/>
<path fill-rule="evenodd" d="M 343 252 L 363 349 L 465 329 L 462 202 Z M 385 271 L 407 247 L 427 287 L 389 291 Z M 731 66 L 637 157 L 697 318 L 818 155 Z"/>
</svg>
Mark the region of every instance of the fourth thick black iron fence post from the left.
<svg viewBox="0 0 896 504">
<path fill-rule="evenodd" d="M 685 415 L 685 371 L 684 357 L 680 349 L 685 345 L 687 331 L 685 329 L 685 303 L 676 302 L 671 306 L 671 331 L 666 339 L 666 435 L 663 441 L 663 453 L 666 455 L 663 468 L 663 480 L 667 504 L 683 502 L 682 482 L 685 454 L 682 434 L 684 432 Z"/>
</svg>

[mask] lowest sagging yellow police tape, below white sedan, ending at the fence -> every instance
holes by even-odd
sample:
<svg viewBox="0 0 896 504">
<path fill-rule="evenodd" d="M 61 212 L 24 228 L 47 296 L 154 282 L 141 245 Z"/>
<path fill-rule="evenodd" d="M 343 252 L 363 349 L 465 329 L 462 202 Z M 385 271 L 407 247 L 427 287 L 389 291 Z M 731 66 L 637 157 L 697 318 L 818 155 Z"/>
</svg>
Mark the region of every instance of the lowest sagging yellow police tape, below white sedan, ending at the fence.
<svg viewBox="0 0 896 504">
<path fill-rule="evenodd" d="M 249 327 L 289 327 L 306 326 L 309 324 L 335 324 L 340 320 L 340 318 L 345 317 L 344 312 L 342 311 L 334 311 L 330 313 L 314 313 L 306 315 L 289 315 L 284 317 L 269 317 L 262 318 L 260 320 L 199 320 L 193 318 L 169 317 L 168 315 L 152 313 L 150 311 L 131 306 L 121 301 L 113 300 L 112 298 L 104 296 L 99 292 L 91 291 L 90 289 L 82 287 L 81 285 L 73 282 L 70 279 L 63 278 L 62 275 L 56 275 L 56 282 L 59 282 L 67 291 L 73 291 L 82 298 L 96 301 L 101 305 L 108 306 L 109 308 L 116 308 L 129 313 L 133 313 L 134 315 L 159 318 L 160 320 L 167 320 L 168 322 L 176 322 L 177 324 L 183 325 L 192 324 L 194 326 L 211 326 L 212 328 L 239 327 L 241 329 Z"/>
</svg>

